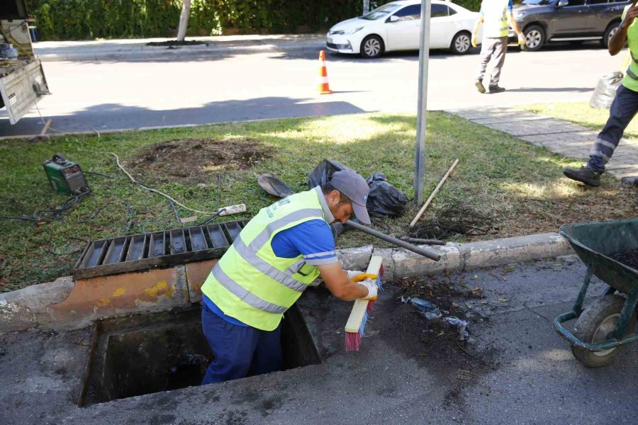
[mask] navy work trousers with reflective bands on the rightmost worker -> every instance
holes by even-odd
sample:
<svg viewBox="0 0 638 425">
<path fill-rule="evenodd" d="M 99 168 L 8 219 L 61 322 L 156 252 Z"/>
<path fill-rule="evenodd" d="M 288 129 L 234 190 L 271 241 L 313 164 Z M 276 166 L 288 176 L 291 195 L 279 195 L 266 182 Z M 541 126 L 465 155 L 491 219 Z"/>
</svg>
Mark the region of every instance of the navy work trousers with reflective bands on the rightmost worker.
<svg viewBox="0 0 638 425">
<path fill-rule="evenodd" d="M 629 90 L 625 86 L 618 87 L 616 97 L 609 109 L 609 119 L 603 131 L 598 133 L 589 154 L 587 166 L 594 171 L 605 171 L 605 164 L 609 162 L 614 150 L 618 146 L 627 125 L 631 123 L 638 112 L 638 92 Z"/>
</svg>

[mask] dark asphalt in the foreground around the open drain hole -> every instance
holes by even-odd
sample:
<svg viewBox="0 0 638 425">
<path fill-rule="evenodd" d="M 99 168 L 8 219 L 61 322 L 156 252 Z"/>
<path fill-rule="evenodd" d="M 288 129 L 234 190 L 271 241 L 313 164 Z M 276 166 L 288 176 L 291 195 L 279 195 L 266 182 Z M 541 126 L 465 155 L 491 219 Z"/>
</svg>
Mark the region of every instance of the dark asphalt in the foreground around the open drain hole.
<svg viewBox="0 0 638 425">
<path fill-rule="evenodd" d="M 591 369 L 554 331 L 584 273 L 570 256 L 427 278 L 486 290 L 486 298 L 465 301 L 481 317 L 466 351 L 440 335 L 427 340 L 425 318 L 396 300 L 400 283 L 386 282 L 361 351 L 348 353 L 350 303 L 308 290 L 299 303 L 323 363 L 83 408 L 74 401 L 90 329 L 4 334 L 0 416 L 21 425 L 635 424 L 638 344 Z M 590 294 L 603 289 L 594 279 Z"/>
</svg>

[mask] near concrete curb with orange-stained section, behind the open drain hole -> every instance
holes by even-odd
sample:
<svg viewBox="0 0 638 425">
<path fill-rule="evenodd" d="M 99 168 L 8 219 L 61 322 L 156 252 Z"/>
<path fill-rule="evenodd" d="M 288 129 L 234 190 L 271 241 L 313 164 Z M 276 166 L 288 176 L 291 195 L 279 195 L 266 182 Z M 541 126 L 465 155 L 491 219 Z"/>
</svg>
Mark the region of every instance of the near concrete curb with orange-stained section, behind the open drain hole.
<svg viewBox="0 0 638 425">
<path fill-rule="evenodd" d="M 339 251 L 339 257 L 344 268 L 365 270 L 372 255 L 383 256 L 384 277 L 393 279 L 427 276 L 443 271 L 467 271 L 573 254 L 569 242 L 557 233 L 532 234 L 469 244 L 450 243 L 430 248 L 441 254 L 441 261 L 432 261 L 404 249 L 374 249 L 372 245 L 342 249 Z M 125 307 L 99 308 L 107 304 L 102 302 L 103 295 L 96 295 L 93 294 L 96 291 L 87 290 L 78 295 L 78 288 L 82 284 L 74 282 L 70 276 L 0 294 L 0 333 L 30 328 L 78 329 L 86 326 L 91 320 L 102 317 L 147 310 L 172 310 L 198 302 L 201 296 L 198 295 L 199 288 L 197 286 L 191 291 L 193 283 L 189 281 L 189 274 L 193 272 L 187 273 L 183 270 L 184 266 L 177 266 L 176 269 L 178 268 L 181 272 L 176 271 L 179 275 L 175 283 L 178 290 L 174 291 L 174 295 L 159 297 L 153 302 L 143 304 L 135 300 L 133 305 Z M 203 271 L 198 273 L 201 276 L 196 280 L 202 280 L 206 274 L 202 273 Z M 149 280 L 148 284 L 152 284 L 152 281 Z M 64 310 L 65 313 L 72 314 L 60 314 L 60 305 L 69 305 L 72 298 L 73 310 Z M 84 303 L 77 300 L 84 300 Z"/>
</svg>

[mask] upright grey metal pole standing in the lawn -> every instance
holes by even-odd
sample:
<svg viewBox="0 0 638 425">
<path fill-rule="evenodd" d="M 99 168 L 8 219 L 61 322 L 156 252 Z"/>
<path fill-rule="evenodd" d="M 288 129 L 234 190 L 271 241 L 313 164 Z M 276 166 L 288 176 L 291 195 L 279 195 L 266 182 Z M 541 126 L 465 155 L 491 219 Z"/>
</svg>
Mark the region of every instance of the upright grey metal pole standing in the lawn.
<svg viewBox="0 0 638 425">
<path fill-rule="evenodd" d="M 425 177 L 425 126 L 427 117 L 427 65 L 430 60 L 430 0 L 421 0 L 421 41 L 419 47 L 419 101 L 417 108 L 417 140 L 414 159 L 414 198 L 423 203 Z"/>
</svg>

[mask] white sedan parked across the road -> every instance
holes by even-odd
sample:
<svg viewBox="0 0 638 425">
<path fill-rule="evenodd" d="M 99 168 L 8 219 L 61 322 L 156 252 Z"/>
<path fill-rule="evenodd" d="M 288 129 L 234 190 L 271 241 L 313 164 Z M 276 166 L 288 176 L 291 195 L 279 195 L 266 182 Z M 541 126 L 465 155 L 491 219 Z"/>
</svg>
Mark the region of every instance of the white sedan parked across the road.
<svg viewBox="0 0 638 425">
<path fill-rule="evenodd" d="M 326 47 L 363 57 L 379 57 L 392 50 L 418 50 L 420 16 L 420 0 L 393 1 L 359 18 L 337 23 L 328 31 Z M 430 48 L 449 49 L 459 55 L 469 52 L 478 13 L 449 1 L 432 0 L 431 16 Z"/>
</svg>

